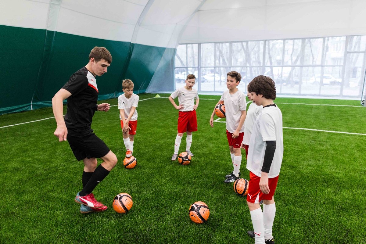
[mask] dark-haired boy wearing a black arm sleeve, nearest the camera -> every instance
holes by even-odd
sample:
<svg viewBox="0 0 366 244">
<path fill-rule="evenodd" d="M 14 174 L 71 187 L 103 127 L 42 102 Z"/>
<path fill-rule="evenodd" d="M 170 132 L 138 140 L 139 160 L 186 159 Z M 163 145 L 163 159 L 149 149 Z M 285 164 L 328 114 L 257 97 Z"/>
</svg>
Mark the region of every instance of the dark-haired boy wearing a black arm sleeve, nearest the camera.
<svg viewBox="0 0 366 244">
<path fill-rule="evenodd" d="M 250 171 L 247 204 L 254 230 L 249 230 L 255 244 L 275 243 L 272 226 L 276 214 L 275 194 L 283 158 L 282 113 L 273 103 L 275 82 L 259 75 L 248 85 L 253 102 L 263 106 L 250 137 L 247 169 Z M 264 200 L 263 212 L 259 201 Z"/>
</svg>

